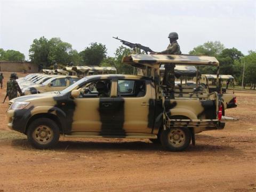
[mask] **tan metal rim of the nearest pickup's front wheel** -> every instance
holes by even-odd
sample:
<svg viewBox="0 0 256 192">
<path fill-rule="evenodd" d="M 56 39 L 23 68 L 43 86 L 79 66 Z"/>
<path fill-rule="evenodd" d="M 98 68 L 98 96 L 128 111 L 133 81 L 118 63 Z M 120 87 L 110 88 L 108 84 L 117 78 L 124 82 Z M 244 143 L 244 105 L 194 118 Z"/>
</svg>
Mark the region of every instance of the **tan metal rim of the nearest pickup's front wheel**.
<svg viewBox="0 0 256 192">
<path fill-rule="evenodd" d="M 53 139 L 53 131 L 49 126 L 39 125 L 33 132 L 33 139 L 41 144 L 47 144 Z"/>
</svg>

